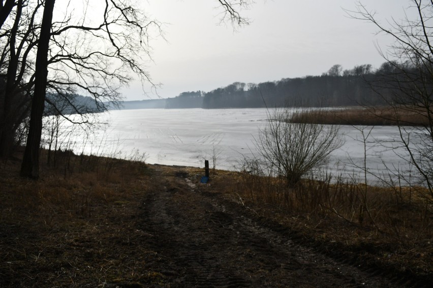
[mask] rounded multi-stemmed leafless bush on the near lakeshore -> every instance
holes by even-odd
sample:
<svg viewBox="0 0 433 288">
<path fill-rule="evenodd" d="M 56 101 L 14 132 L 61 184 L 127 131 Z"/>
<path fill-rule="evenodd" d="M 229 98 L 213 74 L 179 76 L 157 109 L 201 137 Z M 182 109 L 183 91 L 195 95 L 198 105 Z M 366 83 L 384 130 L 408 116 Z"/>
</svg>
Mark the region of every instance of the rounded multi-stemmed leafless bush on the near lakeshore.
<svg viewBox="0 0 433 288">
<path fill-rule="evenodd" d="M 288 187 L 324 164 L 343 144 L 338 126 L 316 124 L 320 111 L 300 113 L 296 118 L 299 123 L 291 121 L 292 112 L 287 109 L 268 115 L 268 125 L 260 130 L 256 141 L 269 167 L 285 178 Z"/>
</svg>

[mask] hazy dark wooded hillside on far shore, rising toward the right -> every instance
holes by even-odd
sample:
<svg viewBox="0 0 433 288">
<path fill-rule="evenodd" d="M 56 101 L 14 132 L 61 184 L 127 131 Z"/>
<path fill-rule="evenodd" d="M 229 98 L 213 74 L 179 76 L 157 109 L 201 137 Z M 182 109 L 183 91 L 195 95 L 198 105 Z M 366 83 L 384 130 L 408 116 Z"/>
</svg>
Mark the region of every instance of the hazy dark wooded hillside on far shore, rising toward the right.
<svg viewBox="0 0 433 288">
<path fill-rule="evenodd" d="M 283 106 L 354 106 L 386 104 L 386 89 L 372 88 L 384 75 L 394 73 L 393 63 L 373 69 L 370 64 L 343 70 L 333 65 L 321 76 L 285 78 L 259 84 L 235 82 L 209 92 L 183 92 L 159 100 L 126 101 L 125 109 L 142 108 L 254 108 Z M 375 85 L 377 87 L 377 85 Z"/>
</svg>

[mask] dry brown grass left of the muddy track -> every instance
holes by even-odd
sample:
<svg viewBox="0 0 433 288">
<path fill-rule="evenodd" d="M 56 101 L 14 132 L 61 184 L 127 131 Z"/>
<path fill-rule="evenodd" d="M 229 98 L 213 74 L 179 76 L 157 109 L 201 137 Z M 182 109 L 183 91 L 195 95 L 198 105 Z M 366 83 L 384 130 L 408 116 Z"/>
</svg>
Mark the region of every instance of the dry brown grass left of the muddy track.
<svg viewBox="0 0 433 288">
<path fill-rule="evenodd" d="M 0 165 L 0 285 L 98 286 L 152 272 L 139 265 L 152 251 L 135 225 L 146 164 L 71 155 L 42 165 L 38 182 L 17 176 L 18 158 Z"/>
</svg>

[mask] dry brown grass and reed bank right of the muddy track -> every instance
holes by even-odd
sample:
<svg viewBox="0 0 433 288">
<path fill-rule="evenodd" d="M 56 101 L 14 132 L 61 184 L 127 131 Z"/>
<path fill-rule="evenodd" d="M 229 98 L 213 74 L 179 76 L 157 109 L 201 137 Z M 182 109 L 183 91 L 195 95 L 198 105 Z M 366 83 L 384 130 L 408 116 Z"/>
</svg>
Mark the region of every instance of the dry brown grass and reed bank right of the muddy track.
<svg viewBox="0 0 433 288">
<path fill-rule="evenodd" d="M 433 272 L 431 203 L 424 189 L 381 188 L 304 179 L 287 188 L 284 179 L 242 172 L 236 195 L 255 211 L 295 228 L 306 238 L 350 250 L 400 271 Z"/>
</svg>

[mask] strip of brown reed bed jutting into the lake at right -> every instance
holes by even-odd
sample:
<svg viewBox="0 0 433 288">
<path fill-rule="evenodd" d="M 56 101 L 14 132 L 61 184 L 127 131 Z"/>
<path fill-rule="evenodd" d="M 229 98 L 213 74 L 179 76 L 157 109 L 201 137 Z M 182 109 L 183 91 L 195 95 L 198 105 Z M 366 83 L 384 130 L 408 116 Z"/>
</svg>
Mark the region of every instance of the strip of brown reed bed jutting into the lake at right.
<svg viewBox="0 0 433 288">
<path fill-rule="evenodd" d="M 327 111 L 308 110 L 293 115 L 294 123 L 335 125 L 408 125 L 428 126 L 424 112 L 415 107 L 354 107 Z"/>
</svg>

